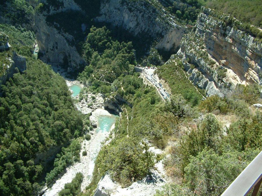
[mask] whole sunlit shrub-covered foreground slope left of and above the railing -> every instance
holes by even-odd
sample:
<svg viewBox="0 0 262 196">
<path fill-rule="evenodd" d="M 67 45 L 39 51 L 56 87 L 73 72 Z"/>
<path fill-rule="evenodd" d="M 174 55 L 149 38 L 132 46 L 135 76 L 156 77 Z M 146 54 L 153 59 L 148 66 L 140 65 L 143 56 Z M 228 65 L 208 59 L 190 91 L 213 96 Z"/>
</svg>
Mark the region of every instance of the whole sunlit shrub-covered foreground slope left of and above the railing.
<svg viewBox="0 0 262 196">
<path fill-rule="evenodd" d="M 232 95 L 211 96 L 201 102 L 199 110 L 205 117 L 197 126 L 187 125 L 188 131 L 164 160 L 167 174 L 180 179 L 180 184 L 167 184 L 156 196 L 223 193 L 262 149 L 261 111 L 249 110 L 249 104 L 254 102 L 247 99 L 258 100 L 259 90 L 257 85 L 240 85 Z M 236 114 L 239 118 L 223 129 L 219 116 L 214 115 L 219 113 Z"/>
</svg>

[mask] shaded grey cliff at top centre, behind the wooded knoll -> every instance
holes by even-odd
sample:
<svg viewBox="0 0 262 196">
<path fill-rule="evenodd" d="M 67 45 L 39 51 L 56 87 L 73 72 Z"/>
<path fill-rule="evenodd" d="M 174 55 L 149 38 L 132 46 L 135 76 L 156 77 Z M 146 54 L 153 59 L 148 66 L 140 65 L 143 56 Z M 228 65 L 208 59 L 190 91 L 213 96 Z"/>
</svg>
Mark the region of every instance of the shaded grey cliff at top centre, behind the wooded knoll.
<svg viewBox="0 0 262 196">
<path fill-rule="evenodd" d="M 156 3 L 157 5 L 154 5 Z M 175 23 L 161 4 L 151 1 L 109 0 L 102 1 L 100 14 L 96 20 L 120 26 L 134 36 L 146 35 L 157 39 L 156 48 L 176 50 L 185 33 L 185 28 Z M 157 9 L 155 6 L 160 7 Z"/>
</svg>

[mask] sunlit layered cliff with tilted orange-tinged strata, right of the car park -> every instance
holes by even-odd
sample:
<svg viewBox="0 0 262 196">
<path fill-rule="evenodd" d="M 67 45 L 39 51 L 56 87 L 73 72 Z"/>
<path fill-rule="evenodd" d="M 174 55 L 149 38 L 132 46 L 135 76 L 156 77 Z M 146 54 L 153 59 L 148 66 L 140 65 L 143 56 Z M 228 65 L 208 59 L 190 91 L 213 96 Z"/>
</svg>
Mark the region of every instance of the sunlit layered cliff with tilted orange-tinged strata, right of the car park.
<svg viewBox="0 0 262 196">
<path fill-rule="evenodd" d="M 262 44 L 211 13 L 203 9 L 196 26 L 181 40 L 177 54 L 183 58 L 190 79 L 206 89 L 208 96 L 236 84 L 259 83 Z"/>
</svg>

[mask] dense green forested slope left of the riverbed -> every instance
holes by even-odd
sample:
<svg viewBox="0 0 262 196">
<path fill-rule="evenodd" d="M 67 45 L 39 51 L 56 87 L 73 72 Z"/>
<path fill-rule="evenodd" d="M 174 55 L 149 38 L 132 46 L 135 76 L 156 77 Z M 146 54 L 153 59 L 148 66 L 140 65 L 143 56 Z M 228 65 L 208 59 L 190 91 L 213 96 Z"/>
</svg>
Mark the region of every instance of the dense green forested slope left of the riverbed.
<svg viewBox="0 0 262 196">
<path fill-rule="evenodd" d="M 81 136 L 83 117 L 74 108 L 63 78 L 33 56 L 33 33 L 7 24 L 0 24 L 0 30 L 9 36 L 11 50 L 26 57 L 27 65 L 26 71 L 16 70 L 13 78 L 2 86 L 0 194 L 36 195 L 46 172 L 53 168 L 45 167 L 48 161 L 41 160 L 41 153 L 51 147 L 59 150 Z M 63 148 L 55 161 L 55 172 L 47 176 L 48 184 L 65 166 L 79 159 L 79 146 L 75 140 Z M 52 157 L 54 154 L 48 154 L 46 158 L 52 162 Z"/>
</svg>

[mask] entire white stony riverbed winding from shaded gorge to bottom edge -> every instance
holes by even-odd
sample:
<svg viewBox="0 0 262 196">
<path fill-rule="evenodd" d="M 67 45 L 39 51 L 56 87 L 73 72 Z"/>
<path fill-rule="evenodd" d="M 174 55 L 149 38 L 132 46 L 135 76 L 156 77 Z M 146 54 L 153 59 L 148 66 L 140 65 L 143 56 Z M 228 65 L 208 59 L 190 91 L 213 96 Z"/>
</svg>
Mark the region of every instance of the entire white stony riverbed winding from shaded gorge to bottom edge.
<svg viewBox="0 0 262 196">
<path fill-rule="evenodd" d="M 68 78 L 67 71 L 65 71 L 60 66 L 52 66 L 52 69 L 54 70 L 54 72 L 59 73 L 65 79 L 68 87 L 71 87 L 72 85 L 77 85 L 81 87 L 81 89 L 85 87 L 79 81 Z M 69 90 L 71 91 L 71 93 L 73 93 L 70 88 Z M 102 144 L 106 142 L 110 131 L 115 127 L 115 124 L 114 122 L 112 124 L 112 121 L 110 121 L 111 123 L 109 123 L 108 126 L 103 125 L 103 123 L 101 123 L 101 125 L 99 124 L 102 118 L 102 122 L 107 123 L 105 116 L 107 118 L 110 117 L 110 120 L 111 118 L 115 118 L 112 114 L 104 109 L 104 95 L 102 95 L 101 93 L 93 95 L 90 92 L 84 91 L 82 93 L 81 100 L 79 99 L 79 94 L 76 96 L 73 96 L 72 94 L 72 98 L 75 99 L 74 105 L 80 112 L 82 112 L 83 114 L 92 113 L 92 115 L 90 116 L 90 121 L 93 121 L 93 123 L 97 125 L 97 128 L 90 131 L 91 139 L 89 141 L 83 139 L 81 143 L 80 161 L 66 168 L 65 174 L 61 178 L 56 180 L 55 184 L 51 188 L 46 190 L 46 192 L 44 193 L 44 195 L 46 196 L 58 195 L 59 191 L 64 188 L 65 184 L 72 181 L 77 172 L 81 172 L 84 176 L 81 184 L 81 190 L 83 191 L 91 182 L 95 160 L 98 152 L 100 151 Z M 103 130 L 100 130 L 100 126 Z M 105 128 L 106 131 L 104 130 Z M 84 151 L 86 151 L 86 156 L 82 155 Z"/>
</svg>

